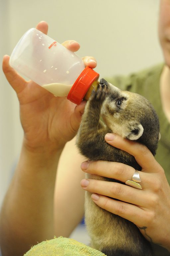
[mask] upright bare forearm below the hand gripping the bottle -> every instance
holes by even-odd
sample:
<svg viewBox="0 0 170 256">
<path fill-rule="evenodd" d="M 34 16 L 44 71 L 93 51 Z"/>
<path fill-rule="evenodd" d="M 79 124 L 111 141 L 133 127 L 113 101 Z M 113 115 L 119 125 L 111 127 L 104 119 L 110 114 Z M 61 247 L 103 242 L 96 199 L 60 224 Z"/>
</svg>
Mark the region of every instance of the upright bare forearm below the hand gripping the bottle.
<svg viewBox="0 0 170 256">
<path fill-rule="evenodd" d="M 48 149 L 36 153 L 22 147 L 1 210 L 4 256 L 23 255 L 31 245 L 53 237 L 53 194 L 60 153 L 61 150 L 49 153 Z"/>
</svg>

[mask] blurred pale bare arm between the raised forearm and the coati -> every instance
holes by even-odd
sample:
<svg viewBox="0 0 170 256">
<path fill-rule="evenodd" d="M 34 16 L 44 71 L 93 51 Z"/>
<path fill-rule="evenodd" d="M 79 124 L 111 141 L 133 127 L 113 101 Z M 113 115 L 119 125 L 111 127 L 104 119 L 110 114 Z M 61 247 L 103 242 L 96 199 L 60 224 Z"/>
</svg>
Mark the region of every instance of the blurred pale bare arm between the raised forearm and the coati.
<svg viewBox="0 0 170 256">
<path fill-rule="evenodd" d="M 75 138 L 67 142 L 62 151 L 55 185 L 55 235 L 69 237 L 84 215 L 84 191 L 80 169 L 85 158 L 75 147 Z"/>
</svg>

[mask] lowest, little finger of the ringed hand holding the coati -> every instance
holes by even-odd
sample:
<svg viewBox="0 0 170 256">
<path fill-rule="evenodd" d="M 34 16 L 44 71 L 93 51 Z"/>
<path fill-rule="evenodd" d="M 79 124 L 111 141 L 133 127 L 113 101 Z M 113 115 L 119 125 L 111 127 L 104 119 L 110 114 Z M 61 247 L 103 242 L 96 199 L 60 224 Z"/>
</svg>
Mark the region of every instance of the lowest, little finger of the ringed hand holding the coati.
<svg viewBox="0 0 170 256">
<path fill-rule="evenodd" d="M 92 199 L 99 207 L 129 220 L 137 226 L 147 226 L 146 220 L 149 214 L 136 205 L 96 194 L 92 195 Z"/>
</svg>

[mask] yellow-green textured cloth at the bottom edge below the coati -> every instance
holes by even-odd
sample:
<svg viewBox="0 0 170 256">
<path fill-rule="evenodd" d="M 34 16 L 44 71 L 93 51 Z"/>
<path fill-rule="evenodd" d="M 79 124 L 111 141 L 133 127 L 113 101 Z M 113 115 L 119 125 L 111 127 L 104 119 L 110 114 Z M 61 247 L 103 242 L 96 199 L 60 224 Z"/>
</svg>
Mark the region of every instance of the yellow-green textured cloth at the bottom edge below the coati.
<svg viewBox="0 0 170 256">
<path fill-rule="evenodd" d="M 71 238 L 58 237 L 33 246 L 24 256 L 106 256 Z"/>
</svg>

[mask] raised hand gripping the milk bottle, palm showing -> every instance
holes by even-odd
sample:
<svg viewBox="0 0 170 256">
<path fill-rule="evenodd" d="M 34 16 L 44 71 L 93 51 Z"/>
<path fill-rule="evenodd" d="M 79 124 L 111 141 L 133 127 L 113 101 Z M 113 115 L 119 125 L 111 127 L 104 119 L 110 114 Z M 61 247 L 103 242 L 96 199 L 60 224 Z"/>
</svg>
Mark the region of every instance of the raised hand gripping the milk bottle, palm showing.
<svg viewBox="0 0 170 256">
<path fill-rule="evenodd" d="M 40 22 L 37 29 L 47 34 L 48 25 Z M 80 45 L 65 41 L 63 45 L 77 51 Z M 85 65 L 96 67 L 93 57 L 83 58 Z M 9 65 L 9 56 L 4 56 L 3 71 L 20 102 L 20 118 L 24 129 L 24 145 L 31 151 L 60 149 L 72 139 L 79 127 L 85 102 L 76 106 L 66 97 L 55 97 L 33 81 L 26 81 Z M 59 121 L 58 121 L 59 120 Z"/>
</svg>

